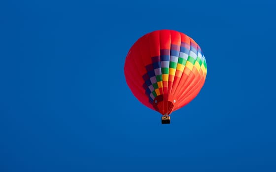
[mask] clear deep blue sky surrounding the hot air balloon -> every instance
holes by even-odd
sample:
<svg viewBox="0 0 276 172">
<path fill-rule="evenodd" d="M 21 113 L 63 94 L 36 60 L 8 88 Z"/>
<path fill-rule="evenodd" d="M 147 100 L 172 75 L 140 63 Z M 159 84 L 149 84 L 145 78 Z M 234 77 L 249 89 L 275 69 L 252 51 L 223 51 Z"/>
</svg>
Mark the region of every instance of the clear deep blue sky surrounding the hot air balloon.
<svg viewBox="0 0 276 172">
<path fill-rule="evenodd" d="M 0 172 L 276 172 L 276 2 L 0 2 Z M 142 35 L 207 60 L 170 125 L 124 77 Z"/>
</svg>

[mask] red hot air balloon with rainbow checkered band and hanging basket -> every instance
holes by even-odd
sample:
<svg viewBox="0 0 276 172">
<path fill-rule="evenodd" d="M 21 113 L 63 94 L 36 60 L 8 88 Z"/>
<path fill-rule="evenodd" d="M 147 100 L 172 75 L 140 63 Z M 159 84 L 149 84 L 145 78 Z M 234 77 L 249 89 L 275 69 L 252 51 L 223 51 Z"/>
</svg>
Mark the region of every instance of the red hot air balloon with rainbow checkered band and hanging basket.
<svg viewBox="0 0 276 172">
<path fill-rule="evenodd" d="M 207 66 L 199 45 L 184 33 L 158 30 L 139 38 L 124 66 L 127 85 L 145 106 L 161 113 L 161 123 L 192 101 L 204 85 Z"/>
</svg>

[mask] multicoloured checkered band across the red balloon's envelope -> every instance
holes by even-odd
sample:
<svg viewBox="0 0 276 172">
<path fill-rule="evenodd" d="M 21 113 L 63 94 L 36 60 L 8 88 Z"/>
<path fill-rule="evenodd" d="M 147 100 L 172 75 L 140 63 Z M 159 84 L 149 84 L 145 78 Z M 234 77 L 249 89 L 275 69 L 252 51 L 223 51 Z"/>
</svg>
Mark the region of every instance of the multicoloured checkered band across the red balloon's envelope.
<svg viewBox="0 0 276 172">
<path fill-rule="evenodd" d="M 146 66 L 147 73 L 143 75 L 143 88 L 150 103 L 153 103 L 156 96 L 168 90 L 168 82 L 173 82 L 175 78 L 181 79 L 185 70 L 197 71 L 197 74 L 200 73 L 204 77 L 207 73 L 205 57 L 198 45 L 192 42 L 181 42 L 180 47 L 171 44 L 170 50 L 161 49 L 160 56 L 151 57 L 151 61 L 152 63 Z M 194 68 L 196 70 L 193 70 Z"/>
</svg>

